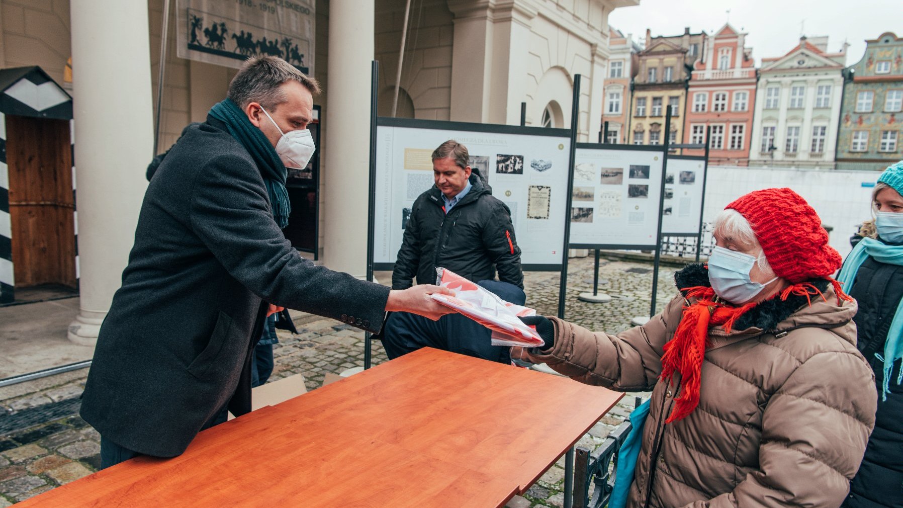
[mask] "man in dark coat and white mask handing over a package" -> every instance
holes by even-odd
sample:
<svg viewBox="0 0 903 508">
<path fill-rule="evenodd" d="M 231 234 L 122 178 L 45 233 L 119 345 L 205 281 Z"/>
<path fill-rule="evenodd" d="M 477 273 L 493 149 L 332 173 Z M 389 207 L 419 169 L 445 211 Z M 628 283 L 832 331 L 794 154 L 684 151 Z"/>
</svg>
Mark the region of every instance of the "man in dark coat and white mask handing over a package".
<svg viewBox="0 0 903 508">
<path fill-rule="evenodd" d="M 249 411 L 250 353 L 271 305 L 373 333 L 386 310 L 448 312 L 427 296 L 436 287 L 390 291 L 314 266 L 285 240 L 285 164 L 312 154 L 318 91 L 281 59 L 248 61 L 151 179 L 81 406 L 101 466 L 180 455 L 227 408 Z"/>
</svg>

